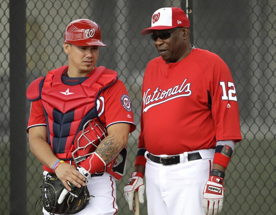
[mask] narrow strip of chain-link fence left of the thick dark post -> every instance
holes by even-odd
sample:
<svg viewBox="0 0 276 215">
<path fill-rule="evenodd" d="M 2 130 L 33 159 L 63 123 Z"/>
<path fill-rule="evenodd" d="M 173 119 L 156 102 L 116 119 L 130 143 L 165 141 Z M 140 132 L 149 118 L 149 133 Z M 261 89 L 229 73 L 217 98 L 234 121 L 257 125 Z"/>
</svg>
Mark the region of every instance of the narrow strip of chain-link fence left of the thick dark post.
<svg viewBox="0 0 276 215">
<path fill-rule="evenodd" d="M 9 7 L 0 3 L 0 214 L 9 214 Z"/>
</svg>

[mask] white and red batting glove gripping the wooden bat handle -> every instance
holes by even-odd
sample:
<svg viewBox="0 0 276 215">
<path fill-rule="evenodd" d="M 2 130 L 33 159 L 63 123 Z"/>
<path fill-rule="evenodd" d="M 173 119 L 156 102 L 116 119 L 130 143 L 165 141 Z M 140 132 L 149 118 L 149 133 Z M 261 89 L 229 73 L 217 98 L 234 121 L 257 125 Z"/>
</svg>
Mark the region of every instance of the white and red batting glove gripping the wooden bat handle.
<svg viewBox="0 0 276 215">
<path fill-rule="evenodd" d="M 144 203 L 145 183 L 144 175 L 141 172 L 133 172 L 131 178 L 124 186 L 124 196 L 129 203 L 129 210 L 133 210 L 134 192 L 138 191 L 138 199 L 141 204 Z"/>
</svg>

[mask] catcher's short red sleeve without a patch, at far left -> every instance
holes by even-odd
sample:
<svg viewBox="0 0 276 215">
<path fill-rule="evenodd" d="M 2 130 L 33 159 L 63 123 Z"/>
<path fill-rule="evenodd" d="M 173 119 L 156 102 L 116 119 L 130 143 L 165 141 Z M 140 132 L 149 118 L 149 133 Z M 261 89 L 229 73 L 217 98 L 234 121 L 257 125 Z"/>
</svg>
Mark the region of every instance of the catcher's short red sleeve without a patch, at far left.
<svg viewBox="0 0 276 215">
<path fill-rule="evenodd" d="M 27 132 L 29 133 L 29 128 L 35 126 L 46 126 L 46 118 L 42 107 L 41 99 L 37 101 L 32 101 L 30 109 L 30 117 L 28 120 Z"/>
</svg>

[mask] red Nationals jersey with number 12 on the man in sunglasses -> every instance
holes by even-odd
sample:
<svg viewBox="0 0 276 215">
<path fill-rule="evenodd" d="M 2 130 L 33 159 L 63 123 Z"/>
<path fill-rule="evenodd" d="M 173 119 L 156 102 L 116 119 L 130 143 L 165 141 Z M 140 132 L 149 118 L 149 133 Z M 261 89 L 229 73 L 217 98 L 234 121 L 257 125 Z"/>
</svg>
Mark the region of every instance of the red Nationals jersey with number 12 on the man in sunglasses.
<svg viewBox="0 0 276 215">
<path fill-rule="evenodd" d="M 142 87 L 139 148 L 154 155 L 209 149 L 241 140 L 235 85 L 216 54 L 193 48 L 176 63 L 151 60 Z"/>
</svg>

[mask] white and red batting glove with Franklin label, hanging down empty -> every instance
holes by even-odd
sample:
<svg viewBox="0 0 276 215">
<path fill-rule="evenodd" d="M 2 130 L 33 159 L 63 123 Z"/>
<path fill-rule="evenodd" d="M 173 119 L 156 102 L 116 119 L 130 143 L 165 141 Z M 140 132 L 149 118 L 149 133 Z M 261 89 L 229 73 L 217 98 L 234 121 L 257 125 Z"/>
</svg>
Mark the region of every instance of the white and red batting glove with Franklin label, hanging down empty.
<svg viewBox="0 0 276 215">
<path fill-rule="evenodd" d="M 223 204 L 223 178 L 210 175 L 203 190 L 203 209 L 208 215 L 221 212 Z"/>
</svg>

